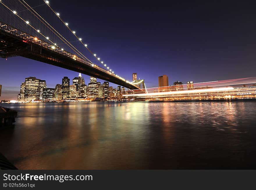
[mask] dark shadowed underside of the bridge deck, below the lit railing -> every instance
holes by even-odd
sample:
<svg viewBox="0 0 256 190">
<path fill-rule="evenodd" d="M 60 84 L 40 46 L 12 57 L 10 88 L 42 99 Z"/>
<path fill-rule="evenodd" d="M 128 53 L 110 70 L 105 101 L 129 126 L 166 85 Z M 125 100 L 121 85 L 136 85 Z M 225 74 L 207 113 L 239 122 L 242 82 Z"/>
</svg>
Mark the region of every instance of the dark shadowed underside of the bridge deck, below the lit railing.
<svg viewBox="0 0 256 190">
<path fill-rule="evenodd" d="M 80 72 L 89 76 L 100 78 L 129 89 L 137 89 L 133 85 L 125 81 L 111 76 L 97 68 L 85 65 L 72 58 L 58 54 L 54 51 L 48 50 L 35 43 L 24 42 L 21 38 L 0 30 L 0 57 L 7 58 L 13 56 L 22 56 L 43 63 L 48 63 L 58 67 L 62 67 L 75 72 Z"/>
</svg>

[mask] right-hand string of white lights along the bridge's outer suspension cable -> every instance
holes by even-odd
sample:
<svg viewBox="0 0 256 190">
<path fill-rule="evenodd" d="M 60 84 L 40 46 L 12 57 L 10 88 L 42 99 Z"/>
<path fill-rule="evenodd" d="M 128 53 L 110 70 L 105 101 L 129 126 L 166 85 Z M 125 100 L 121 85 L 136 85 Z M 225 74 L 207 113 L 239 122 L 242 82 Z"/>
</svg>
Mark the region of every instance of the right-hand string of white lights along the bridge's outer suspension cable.
<svg viewBox="0 0 256 190">
<path fill-rule="evenodd" d="M 76 32 L 74 30 L 71 30 L 71 28 L 68 26 L 68 23 L 67 22 L 64 22 L 63 19 L 61 19 L 60 17 L 60 13 L 59 12 L 56 12 L 53 8 L 51 8 L 50 6 L 50 2 L 49 1 L 46 1 L 44 0 L 45 3 L 47 4 L 47 6 L 54 12 L 54 14 L 56 14 L 56 16 L 63 22 L 63 24 L 74 34 L 74 36 L 86 47 L 86 49 L 100 62 L 102 63 L 102 65 L 104 65 L 110 72 L 112 72 L 114 74 L 114 71 L 112 71 L 106 64 L 104 64 L 103 61 L 100 60 L 99 57 L 97 57 L 97 54 L 93 53 L 89 48 L 88 48 L 88 45 L 86 43 L 83 43 L 82 41 L 82 38 L 79 38 L 77 35 L 76 35 Z M 124 78 L 118 76 L 117 74 L 115 74 L 118 78 L 126 81 Z"/>
</svg>

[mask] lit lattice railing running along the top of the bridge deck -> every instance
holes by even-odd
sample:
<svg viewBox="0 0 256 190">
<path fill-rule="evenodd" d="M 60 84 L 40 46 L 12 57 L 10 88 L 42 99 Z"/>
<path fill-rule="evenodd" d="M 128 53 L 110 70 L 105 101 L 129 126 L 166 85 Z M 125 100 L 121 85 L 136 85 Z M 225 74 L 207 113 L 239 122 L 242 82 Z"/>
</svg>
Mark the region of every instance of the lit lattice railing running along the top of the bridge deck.
<svg viewBox="0 0 256 190">
<path fill-rule="evenodd" d="M 29 41 L 31 43 L 40 45 L 40 46 L 42 46 L 44 48 L 47 48 L 47 49 L 49 49 L 51 51 L 54 51 L 56 53 L 65 55 L 67 57 L 70 57 L 70 58 L 72 58 L 72 59 L 74 59 L 76 61 L 79 61 L 79 62 L 83 63 L 83 64 L 89 65 L 91 67 L 96 67 L 98 70 L 101 70 L 101 71 L 105 72 L 106 74 L 109 74 L 109 75 L 111 75 L 113 77 L 119 78 L 120 80 L 123 80 L 123 81 L 127 82 L 124 78 L 122 78 L 120 76 L 116 76 L 116 74 L 113 74 L 112 72 L 107 71 L 107 70 L 103 69 L 102 67 L 99 67 L 98 65 L 95 65 L 94 63 L 90 63 L 89 61 L 86 61 L 85 59 L 83 59 L 81 57 L 78 57 L 78 56 L 76 56 L 76 55 L 74 55 L 74 54 L 72 54 L 70 52 L 62 50 L 62 48 L 60 48 L 58 46 L 55 46 L 55 45 L 53 45 L 51 43 L 47 43 L 47 42 L 45 42 L 45 41 L 43 41 L 41 39 L 38 39 L 35 36 L 27 34 L 27 33 L 23 32 L 23 31 L 21 31 L 21 30 L 19 30 L 17 28 L 14 28 L 13 26 L 7 25 L 6 23 L 3 23 L 1 21 L 0 21 L 0 30 L 3 30 L 5 32 L 8 32 L 10 34 L 13 34 L 15 36 L 18 36 L 18 37 L 22 38 L 25 43 L 27 43 Z M 129 84 L 133 85 L 132 83 L 129 83 Z M 136 85 L 133 85 L 133 86 L 138 88 Z"/>
</svg>

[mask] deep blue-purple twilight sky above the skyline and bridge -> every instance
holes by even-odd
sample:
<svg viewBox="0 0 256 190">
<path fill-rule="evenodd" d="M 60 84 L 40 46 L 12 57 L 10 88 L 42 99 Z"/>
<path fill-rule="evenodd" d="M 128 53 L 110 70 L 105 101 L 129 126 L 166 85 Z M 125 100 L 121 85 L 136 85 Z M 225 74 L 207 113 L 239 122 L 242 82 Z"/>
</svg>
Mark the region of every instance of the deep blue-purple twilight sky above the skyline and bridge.
<svg viewBox="0 0 256 190">
<path fill-rule="evenodd" d="M 38 1 L 38 5 L 42 3 Z M 158 76 L 163 74 L 169 77 L 169 85 L 177 80 L 186 83 L 256 76 L 255 4 L 50 3 L 75 24 L 77 33 L 115 73 L 130 81 L 133 72 L 145 79 L 147 87 L 157 87 Z M 63 76 L 72 81 L 78 73 L 22 57 L 0 58 L 0 100 L 16 100 L 20 84 L 29 76 L 46 80 L 47 87 L 54 88 Z M 82 76 L 88 84 L 89 76 Z"/>
</svg>

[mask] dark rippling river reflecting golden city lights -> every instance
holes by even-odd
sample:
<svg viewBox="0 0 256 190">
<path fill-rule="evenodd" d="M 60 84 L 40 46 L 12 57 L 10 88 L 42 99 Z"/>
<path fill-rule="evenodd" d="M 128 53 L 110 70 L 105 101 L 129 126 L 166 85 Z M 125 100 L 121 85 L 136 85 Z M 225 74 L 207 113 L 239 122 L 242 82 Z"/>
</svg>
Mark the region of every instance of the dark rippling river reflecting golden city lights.
<svg viewBox="0 0 256 190">
<path fill-rule="evenodd" d="M 256 101 L 2 104 L 19 169 L 256 169 Z"/>
</svg>

